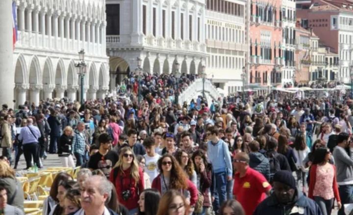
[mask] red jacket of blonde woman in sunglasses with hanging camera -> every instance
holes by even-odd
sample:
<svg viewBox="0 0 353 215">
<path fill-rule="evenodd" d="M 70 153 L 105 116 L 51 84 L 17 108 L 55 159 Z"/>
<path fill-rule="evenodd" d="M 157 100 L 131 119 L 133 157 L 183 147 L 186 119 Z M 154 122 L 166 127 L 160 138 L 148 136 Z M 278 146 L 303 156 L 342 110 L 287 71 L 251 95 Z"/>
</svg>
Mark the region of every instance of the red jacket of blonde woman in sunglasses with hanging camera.
<svg viewBox="0 0 353 215">
<path fill-rule="evenodd" d="M 118 200 L 121 204 L 123 204 L 128 210 L 134 209 L 138 207 L 137 201 L 140 198 L 140 194 L 145 188 L 145 180 L 143 176 L 142 169 L 139 167 L 139 175 L 140 179 L 137 182 L 136 186 L 135 180 L 130 176 L 130 171 L 131 168 L 127 169 L 124 171 L 125 175 L 122 175 L 121 172 L 118 173 L 118 175 L 115 178 L 115 181 L 113 181 L 114 177 L 114 169 L 109 174 L 109 180 L 114 184 L 116 192 L 118 194 Z M 123 185 L 122 183 L 123 182 Z M 122 193 L 126 190 L 130 190 L 131 196 L 127 201 L 123 199 Z"/>
</svg>

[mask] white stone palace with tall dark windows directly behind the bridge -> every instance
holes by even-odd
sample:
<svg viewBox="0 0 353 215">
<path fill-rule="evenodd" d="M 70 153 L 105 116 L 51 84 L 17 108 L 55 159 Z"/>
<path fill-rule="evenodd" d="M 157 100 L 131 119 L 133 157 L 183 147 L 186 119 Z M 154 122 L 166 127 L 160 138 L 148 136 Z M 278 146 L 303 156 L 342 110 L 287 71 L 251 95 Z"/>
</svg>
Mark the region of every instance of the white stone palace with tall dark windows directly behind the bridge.
<svg viewBox="0 0 353 215">
<path fill-rule="evenodd" d="M 106 0 L 111 89 L 142 59 L 144 72 L 200 73 L 205 64 L 204 0 Z"/>
</svg>

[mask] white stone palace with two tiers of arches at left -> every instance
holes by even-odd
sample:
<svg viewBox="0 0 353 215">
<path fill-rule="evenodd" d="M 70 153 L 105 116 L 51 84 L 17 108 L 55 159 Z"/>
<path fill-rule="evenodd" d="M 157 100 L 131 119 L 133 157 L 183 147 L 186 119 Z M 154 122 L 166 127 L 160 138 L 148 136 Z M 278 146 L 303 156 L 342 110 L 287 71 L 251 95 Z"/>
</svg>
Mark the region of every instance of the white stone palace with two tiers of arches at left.
<svg viewBox="0 0 353 215">
<path fill-rule="evenodd" d="M 84 98 L 103 98 L 109 86 L 105 49 L 105 0 L 15 0 L 18 41 L 14 49 L 16 104 L 79 98 L 75 63 L 85 50 Z M 87 94 L 87 95 L 86 95 Z"/>
</svg>

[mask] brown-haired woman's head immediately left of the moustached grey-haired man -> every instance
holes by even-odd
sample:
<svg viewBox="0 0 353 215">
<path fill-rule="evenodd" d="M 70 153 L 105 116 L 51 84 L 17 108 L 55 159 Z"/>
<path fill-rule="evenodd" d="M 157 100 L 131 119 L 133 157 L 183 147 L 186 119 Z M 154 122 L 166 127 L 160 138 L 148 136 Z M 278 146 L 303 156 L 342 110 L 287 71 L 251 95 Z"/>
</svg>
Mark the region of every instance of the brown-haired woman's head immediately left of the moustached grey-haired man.
<svg viewBox="0 0 353 215">
<path fill-rule="evenodd" d="M 74 215 L 81 209 L 81 192 L 79 189 L 69 189 L 64 196 L 65 215 Z"/>
</svg>

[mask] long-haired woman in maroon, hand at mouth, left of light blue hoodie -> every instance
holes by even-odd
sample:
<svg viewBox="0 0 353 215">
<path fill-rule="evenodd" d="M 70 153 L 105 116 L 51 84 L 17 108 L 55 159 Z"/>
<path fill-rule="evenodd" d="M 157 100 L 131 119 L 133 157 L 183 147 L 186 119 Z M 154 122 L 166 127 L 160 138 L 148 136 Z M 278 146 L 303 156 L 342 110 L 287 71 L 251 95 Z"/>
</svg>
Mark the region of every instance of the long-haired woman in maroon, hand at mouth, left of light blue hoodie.
<svg viewBox="0 0 353 215">
<path fill-rule="evenodd" d="M 207 163 L 207 158 L 205 152 L 202 150 L 197 150 L 192 154 L 191 157 L 195 171 L 197 174 L 197 188 L 199 192 L 203 195 L 203 209 L 198 215 L 205 215 L 207 208 L 211 207 L 211 199 L 209 195 L 209 189 L 211 187 L 211 165 Z"/>
</svg>

